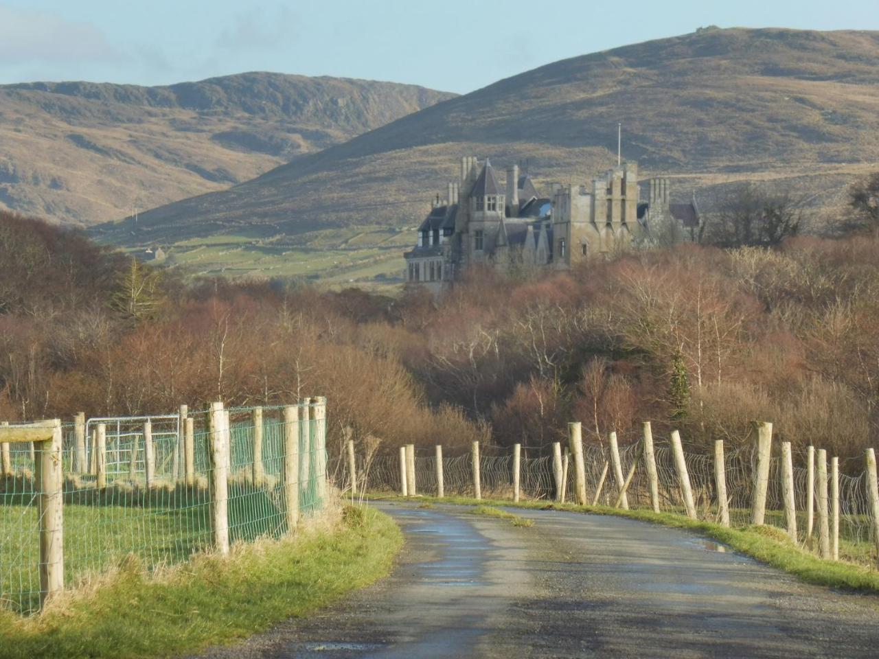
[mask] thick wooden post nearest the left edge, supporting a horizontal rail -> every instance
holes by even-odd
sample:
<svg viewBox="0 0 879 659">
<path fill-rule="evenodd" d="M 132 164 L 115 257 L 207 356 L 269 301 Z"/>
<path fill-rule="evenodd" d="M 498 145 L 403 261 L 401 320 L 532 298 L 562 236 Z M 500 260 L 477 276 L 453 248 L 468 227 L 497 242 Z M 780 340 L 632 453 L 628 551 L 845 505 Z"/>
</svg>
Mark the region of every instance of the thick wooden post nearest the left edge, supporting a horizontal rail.
<svg viewBox="0 0 879 659">
<path fill-rule="evenodd" d="M 64 508 L 61 419 L 47 422 L 52 438 L 40 441 L 36 470 L 40 518 L 40 608 L 64 589 Z"/>
</svg>

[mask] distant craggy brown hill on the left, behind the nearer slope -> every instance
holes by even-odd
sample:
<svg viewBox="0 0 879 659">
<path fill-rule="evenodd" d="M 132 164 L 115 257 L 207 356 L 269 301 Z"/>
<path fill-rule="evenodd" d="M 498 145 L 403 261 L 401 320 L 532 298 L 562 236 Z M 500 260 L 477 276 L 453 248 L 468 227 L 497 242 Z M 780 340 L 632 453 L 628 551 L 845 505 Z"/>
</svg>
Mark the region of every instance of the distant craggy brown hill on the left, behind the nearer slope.
<svg viewBox="0 0 879 659">
<path fill-rule="evenodd" d="M 452 94 L 244 73 L 0 86 L 0 208 L 80 225 L 222 190 Z"/>
</svg>

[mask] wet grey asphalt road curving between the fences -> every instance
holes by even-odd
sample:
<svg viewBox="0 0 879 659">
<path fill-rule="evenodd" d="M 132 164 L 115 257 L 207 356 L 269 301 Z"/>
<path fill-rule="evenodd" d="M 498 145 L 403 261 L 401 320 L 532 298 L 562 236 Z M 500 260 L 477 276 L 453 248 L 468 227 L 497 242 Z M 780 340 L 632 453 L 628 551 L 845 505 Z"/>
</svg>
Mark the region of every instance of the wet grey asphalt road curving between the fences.
<svg viewBox="0 0 879 659">
<path fill-rule="evenodd" d="M 205 657 L 875 657 L 879 597 L 796 581 L 687 532 L 562 511 L 531 527 L 381 503 L 394 573 Z"/>
</svg>

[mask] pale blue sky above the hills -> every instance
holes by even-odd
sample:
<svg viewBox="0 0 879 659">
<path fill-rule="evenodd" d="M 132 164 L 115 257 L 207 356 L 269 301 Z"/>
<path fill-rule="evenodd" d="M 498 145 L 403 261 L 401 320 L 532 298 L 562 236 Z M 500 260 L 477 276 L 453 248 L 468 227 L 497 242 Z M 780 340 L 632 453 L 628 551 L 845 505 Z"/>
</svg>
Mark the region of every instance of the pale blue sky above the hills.
<svg viewBox="0 0 879 659">
<path fill-rule="evenodd" d="M 465 93 L 704 25 L 879 30 L 879 0 L 0 0 L 0 83 L 261 70 Z"/>
</svg>

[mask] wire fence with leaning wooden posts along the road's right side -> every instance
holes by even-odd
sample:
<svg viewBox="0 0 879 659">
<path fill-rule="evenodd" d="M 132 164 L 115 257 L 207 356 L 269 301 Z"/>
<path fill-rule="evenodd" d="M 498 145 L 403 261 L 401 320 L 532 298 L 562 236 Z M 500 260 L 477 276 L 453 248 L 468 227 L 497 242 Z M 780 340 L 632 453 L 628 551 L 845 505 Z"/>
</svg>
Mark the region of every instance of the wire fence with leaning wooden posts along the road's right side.
<svg viewBox="0 0 879 659">
<path fill-rule="evenodd" d="M 625 445 L 616 433 L 604 445 L 586 444 L 580 432 L 579 424 L 570 424 L 564 447 L 475 444 L 454 454 L 408 445 L 367 456 L 351 443 L 331 472 L 348 492 L 353 482 L 359 492 L 581 503 L 721 527 L 765 525 L 820 558 L 877 565 L 872 449 L 845 460 L 812 446 L 795 453 L 788 443 L 773 445 L 771 424 L 755 426 L 752 445 L 725 450 L 720 441 L 713 453 L 685 450 L 677 432 L 655 440 L 650 424 Z"/>
</svg>

